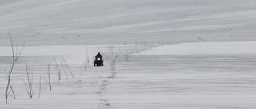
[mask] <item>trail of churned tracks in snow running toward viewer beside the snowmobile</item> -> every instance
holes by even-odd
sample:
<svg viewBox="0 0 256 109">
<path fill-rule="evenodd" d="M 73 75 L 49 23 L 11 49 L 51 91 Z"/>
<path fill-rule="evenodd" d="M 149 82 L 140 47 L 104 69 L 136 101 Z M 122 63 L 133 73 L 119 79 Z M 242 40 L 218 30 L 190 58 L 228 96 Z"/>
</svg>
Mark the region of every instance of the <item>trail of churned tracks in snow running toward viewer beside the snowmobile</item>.
<svg viewBox="0 0 256 109">
<path fill-rule="evenodd" d="M 108 85 L 110 84 L 110 79 L 114 79 L 114 76 L 117 75 L 115 64 L 116 60 L 118 59 L 119 55 L 114 56 L 114 58 L 110 61 L 110 76 L 106 76 L 104 80 L 100 82 L 98 85 L 98 91 L 96 94 L 100 98 L 100 103 L 98 104 L 98 108 L 106 108 L 110 107 L 110 102 L 108 99 L 104 98 L 104 95 L 106 95 L 106 90 Z"/>
</svg>

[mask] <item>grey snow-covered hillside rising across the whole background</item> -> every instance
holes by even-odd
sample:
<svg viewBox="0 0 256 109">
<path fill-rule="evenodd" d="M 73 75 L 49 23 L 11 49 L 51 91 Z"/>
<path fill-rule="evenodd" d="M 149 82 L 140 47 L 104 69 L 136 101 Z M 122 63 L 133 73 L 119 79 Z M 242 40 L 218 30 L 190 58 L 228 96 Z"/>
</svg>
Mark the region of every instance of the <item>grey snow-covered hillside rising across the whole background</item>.
<svg viewBox="0 0 256 109">
<path fill-rule="evenodd" d="M 2 41 L 11 33 L 27 45 L 198 37 L 255 41 L 254 0 L 2 0 L 0 4 Z"/>
</svg>

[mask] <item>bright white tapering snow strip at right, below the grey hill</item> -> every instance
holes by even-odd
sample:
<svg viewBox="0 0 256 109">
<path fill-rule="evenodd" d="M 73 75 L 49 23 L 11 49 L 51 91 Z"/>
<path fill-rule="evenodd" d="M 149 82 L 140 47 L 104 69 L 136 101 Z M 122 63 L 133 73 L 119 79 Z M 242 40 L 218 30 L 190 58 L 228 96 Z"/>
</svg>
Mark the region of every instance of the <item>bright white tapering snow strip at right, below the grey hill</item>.
<svg viewBox="0 0 256 109">
<path fill-rule="evenodd" d="M 255 55 L 256 41 L 200 42 L 165 45 L 139 55 Z"/>
</svg>

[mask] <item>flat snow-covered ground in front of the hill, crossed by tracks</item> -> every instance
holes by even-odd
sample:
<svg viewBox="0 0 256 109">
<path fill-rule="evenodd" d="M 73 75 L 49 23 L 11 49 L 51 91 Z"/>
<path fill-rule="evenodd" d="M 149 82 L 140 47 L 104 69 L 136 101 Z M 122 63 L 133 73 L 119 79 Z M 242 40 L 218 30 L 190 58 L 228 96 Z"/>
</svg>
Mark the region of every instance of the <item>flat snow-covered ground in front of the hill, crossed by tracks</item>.
<svg viewBox="0 0 256 109">
<path fill-rule="evenodd" d="M 238 52 L 237 45 L 244 50 Z M 254 45 L 256 41 L 165 45 L 134 55 L 111 57 L 104 67 L 87 65 L 86 72 L 77 60 L 70 64 L 75 79 L 70 75 L 66 78 L 62 71 L 60 85 L 52 65 L 53 90 L 50 91 L 42 79 L 40 98 L 39 74 L 46 75 L 46 64 L 53 57 L 24 56 L 14 72 L 15 80 L 12 80 L 17 99 L 10 99 L 8 104 L 1 99 L 1 107 L 255 108 Z M 188 52 L 184 46 L 194 52 Z M 1 60 L 5 58 L 1 56 Z M 34 60 L 30 65 L 34 68 L 33 99 L 26 95 L 22 83 L 22 76 L 26 77 L 26 59 Z M 4 75 L 1 80 L 3 91 Z"/>
</svg>

